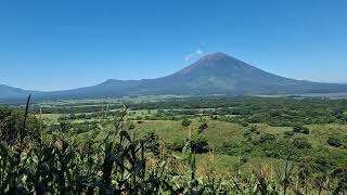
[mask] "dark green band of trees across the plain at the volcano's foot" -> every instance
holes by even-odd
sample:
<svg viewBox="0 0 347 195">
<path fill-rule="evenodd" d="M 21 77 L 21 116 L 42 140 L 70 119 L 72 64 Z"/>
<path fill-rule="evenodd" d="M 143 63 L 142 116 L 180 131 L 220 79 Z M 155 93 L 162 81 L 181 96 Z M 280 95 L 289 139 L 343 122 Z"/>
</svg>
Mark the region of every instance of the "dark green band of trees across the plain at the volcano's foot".
<svg viewBox="0 0 347 195">
<path fill-rule="evenodd" d="M 347 100 L 297 99 L 297 98 L 187 98 L 158 102 L 131 102 L 126 104 L 133 110 L 156 109 L 150 116 L 139 119 L 179 119 L 179 116 L 216 116 L 219 120 L 230 122 L 264 122 L 271 126 L 294 126 L 310 123 L 330 123 L 347 121 Z M 78 107 L 42 107 L 41 112 L 55 114 L 94 115 L 119 108 L 120 105 L 86 105 Z M 39 113 L 39 107 L 33 108 Z M 112 113 L 111 113 L 112 114 Z M 146 117 L 146 118 L 144 118 Z"/>
</svg>

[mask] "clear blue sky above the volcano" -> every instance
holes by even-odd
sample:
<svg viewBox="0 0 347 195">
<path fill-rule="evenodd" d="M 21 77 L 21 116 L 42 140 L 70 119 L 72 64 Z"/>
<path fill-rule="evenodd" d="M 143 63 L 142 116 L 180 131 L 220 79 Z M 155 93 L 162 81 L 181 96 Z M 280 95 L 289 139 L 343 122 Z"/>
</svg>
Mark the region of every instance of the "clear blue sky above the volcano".
<svg viewBox="0 0 347 195">
<path fill-rule="evenodd" d="M 3 84 L 156 78 L 217 51 L 285 77 L 347 82 L 347 1 L 0 1 Z"/>
</svg>

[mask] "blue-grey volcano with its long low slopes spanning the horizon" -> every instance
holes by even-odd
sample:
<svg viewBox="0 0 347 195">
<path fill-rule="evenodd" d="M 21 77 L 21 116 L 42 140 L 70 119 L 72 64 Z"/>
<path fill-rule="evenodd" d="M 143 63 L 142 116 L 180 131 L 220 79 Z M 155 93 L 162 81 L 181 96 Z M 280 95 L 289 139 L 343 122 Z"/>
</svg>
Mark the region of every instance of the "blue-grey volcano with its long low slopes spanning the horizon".
<svg viewBox="0 0 347 195">
<path fill-rule="evenodd" d="M 39 92 L 0 86 L 0 100 L 87 99 L 125 95 L 247 95 L 347 92 L 347 84 L 295 80 L 267 73 L 224 53 L 217 52 L 166 77 L 143 80 L 110 79 L 97 86 L 65 91 Z"/>
</svg>

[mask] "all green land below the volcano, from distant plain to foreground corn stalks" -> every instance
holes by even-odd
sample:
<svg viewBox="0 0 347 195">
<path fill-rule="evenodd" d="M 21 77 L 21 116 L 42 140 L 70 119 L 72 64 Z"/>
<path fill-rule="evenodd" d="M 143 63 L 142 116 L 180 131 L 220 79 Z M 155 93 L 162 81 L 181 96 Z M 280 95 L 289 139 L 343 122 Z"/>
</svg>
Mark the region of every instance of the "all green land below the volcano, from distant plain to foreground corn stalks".
<svg viewBox="0 0 347 195">
<path fill-rule="evenodd" d="M 0 108 L 0 194 L 346 194 L 346 103 L 194 98 L 34 104 L 35 115 Z"/>
</svg>

